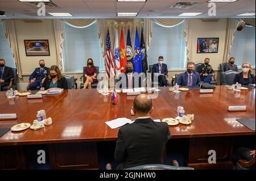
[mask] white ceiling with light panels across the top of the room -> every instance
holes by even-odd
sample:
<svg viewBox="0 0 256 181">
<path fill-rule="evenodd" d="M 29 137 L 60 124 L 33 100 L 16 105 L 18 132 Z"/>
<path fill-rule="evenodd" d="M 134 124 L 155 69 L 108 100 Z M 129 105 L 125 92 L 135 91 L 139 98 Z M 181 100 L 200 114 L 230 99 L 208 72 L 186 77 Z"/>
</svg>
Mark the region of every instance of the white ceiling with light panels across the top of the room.
<svg viewBox="0 0 256 181">
<path fill-rule="evenodd" d="M 147 0 L 147 2 L 139 3 L 117 2 L 116 0 L 51 1 L 58 7 L 46 9 L 46 12 L 69 12 L 73 15 L 72 18 L 117 18 L 117 12 L 138 12 L 135 18 L 183 18 L 177 16 L 183 12 L 203 12 L 203 14 L 191 18 L 237 18 L 238 14 L 255 12 L 255 0 L 239 0 L 232 3 L 218 2 L 216 3 L 217 16 L 211 17 L 208 16 L 207 1 L 209 0 Z M 197 2 L 198 5 L 192 9 L 170 9 L 169 7 L 176 2 Z M 151 12 L 150 10 L 155 11 Z M 39 18 L 36 7 L 31 7 L 31 5 L 18 0 L 0 0 L 0 11 L 5 11 L 7 18 Z M 53 18 L 53 16 L 46 15 L 44 18 Z"/>
</svg>

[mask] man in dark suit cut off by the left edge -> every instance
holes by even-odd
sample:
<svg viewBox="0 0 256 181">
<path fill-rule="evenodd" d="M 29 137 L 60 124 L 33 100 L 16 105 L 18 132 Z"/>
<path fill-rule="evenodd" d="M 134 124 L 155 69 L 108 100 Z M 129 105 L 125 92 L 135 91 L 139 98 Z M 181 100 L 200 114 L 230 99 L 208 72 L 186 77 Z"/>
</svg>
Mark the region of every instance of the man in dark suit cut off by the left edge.
<svg viewBox="0 0 256 181">
<path fill-rule="evenodd" d="M 9 86 L 11 78 L 14 78 L 13 69 L 5 66 L 5 60 L 0 58 L 0 85 L 1 91 L 3 87 Z"/>
</svg>

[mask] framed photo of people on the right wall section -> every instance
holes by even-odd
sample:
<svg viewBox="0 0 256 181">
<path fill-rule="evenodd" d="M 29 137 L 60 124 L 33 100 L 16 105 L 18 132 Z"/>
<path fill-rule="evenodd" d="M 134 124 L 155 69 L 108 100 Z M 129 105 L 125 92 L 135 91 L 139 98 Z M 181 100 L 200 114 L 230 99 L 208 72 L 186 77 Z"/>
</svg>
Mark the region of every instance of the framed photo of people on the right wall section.
<svg viewBox="0 0 256 181">
<path fill-rule="evenodd" d="M 218 53 L 218 37 L 199 37 L 197 53 Z"/>
</svg>

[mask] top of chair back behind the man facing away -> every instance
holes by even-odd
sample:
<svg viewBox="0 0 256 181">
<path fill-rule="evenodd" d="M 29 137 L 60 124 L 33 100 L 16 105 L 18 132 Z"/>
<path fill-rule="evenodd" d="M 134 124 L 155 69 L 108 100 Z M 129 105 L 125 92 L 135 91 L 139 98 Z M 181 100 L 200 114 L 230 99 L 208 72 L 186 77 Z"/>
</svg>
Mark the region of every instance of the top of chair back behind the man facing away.
<svg viewBox="0 0 256 181">
<path fill-rule="evenodd" d="M 131 167 L 125 170 L 194 170 L 191 167 L 179 167 L 179 166 L 170 166 L 162 164 L 152 164 L 152 165 L 139 165 Z"/>
</svg>

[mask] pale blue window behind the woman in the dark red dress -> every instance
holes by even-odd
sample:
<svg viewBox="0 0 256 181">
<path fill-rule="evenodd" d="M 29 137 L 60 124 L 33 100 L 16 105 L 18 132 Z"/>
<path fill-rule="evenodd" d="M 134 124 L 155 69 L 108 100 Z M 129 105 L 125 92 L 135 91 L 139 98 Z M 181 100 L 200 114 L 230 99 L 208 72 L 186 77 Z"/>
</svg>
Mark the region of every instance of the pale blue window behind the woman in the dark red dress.
<svg viewBox="0 0 256 181">
<path fill-rule="evenodd" d="M 105 70 L 97 22 L 85 28 L 76 28 L 64 23 L 64 71 L 82 72 L 88 58 L 93 59 L 94 66 L 98 66 L 99 70 Z"/>
</svg>

